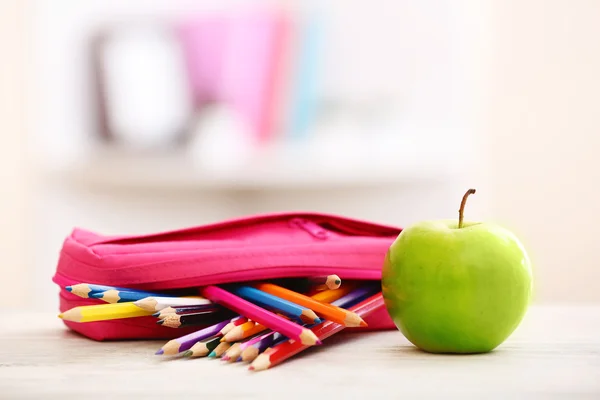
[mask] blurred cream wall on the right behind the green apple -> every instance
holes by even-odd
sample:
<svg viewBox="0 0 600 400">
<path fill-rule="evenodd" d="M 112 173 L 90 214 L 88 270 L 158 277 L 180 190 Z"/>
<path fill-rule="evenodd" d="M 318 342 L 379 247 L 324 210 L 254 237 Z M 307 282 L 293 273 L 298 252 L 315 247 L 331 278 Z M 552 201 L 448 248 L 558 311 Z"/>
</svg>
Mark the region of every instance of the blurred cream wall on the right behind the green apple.
<svg viewBox="0 0 600 400">
<path fill-rule="evenodd" d="M 600 301 L 600 2 L 493 5 L 493 214 L 530 248 L 540 299 Z"/>
</svg>

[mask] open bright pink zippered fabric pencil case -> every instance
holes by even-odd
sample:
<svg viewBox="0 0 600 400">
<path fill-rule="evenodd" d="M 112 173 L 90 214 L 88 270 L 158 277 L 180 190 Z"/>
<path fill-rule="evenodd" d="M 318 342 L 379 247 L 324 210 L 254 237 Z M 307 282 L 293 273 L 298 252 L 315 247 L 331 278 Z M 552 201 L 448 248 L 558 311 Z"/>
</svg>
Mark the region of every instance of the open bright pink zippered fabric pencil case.
<svg viewBox="0 0 600 400">
<path fill-rule="evenodd" d="M 64 312 L 104 304 L 64 289 L 77 283 L 162 292 L 328 274 L 342 280 L 380 280 L 387 249 L 400 231 L 323 213 L 270 213 L 133 236 L 76 228 L 63 243 L 53 281 L 61 288 Z M 395 328 L 385 310 L 365 321 L 370 330 Z M 198 329 L 163 327 L 154 317 L 63 322 L 95 340 L 172 339 Z"/>
</svg>

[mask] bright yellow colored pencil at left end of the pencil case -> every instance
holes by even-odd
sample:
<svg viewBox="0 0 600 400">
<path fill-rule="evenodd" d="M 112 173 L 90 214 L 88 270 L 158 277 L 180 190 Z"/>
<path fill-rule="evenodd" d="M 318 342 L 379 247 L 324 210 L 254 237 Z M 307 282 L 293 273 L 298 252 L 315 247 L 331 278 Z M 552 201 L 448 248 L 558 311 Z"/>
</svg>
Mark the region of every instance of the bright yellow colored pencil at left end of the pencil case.
<svg viewBox="0 0 600 400">
<path fill-rule="evenodd" d="M 151 312 L 146 311 L 133 303 L 117 303 L 74 307 L 59 314 L 59 318 L 73 322 L 94 322 L 145 317 L 151 314 Z"/>
</svg>

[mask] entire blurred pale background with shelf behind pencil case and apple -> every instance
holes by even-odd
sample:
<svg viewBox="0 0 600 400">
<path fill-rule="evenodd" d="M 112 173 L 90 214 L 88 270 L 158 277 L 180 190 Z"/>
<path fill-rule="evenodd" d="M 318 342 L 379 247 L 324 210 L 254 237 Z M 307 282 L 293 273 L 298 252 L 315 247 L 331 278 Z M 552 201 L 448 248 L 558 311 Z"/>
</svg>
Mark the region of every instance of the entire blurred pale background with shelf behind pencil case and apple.
<svg viewBox="0 0 600 400">
<path fill-rule="evenodd" d="M 525 243 L 536 302 L 600 301 L 599 16 L 593 0 L 4 1 L 0 304 L 57 309 L 76 226 L 284 210 L 407 226 L 456 218 L 469 187 L 466 219 Z"/>
</svg>

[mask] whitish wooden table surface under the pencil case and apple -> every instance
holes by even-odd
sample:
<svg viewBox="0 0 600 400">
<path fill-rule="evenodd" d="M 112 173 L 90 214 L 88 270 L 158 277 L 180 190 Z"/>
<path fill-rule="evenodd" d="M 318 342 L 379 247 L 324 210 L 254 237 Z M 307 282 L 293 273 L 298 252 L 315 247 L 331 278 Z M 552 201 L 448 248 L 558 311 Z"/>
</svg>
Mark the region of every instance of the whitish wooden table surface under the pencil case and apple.
<svg viewBox="0 0 600 400">
<path fill-rule="evenodd" d="M 95 342 L 55 315 L 3 315 L 2 399 L 600 399 L 600 306 L 533 306 L 488 354 L 427 354 L 398 331 L 340 333 L 262 372 L 155 356 L 164 341 Z"/>
</svg>

